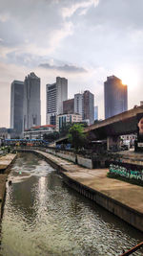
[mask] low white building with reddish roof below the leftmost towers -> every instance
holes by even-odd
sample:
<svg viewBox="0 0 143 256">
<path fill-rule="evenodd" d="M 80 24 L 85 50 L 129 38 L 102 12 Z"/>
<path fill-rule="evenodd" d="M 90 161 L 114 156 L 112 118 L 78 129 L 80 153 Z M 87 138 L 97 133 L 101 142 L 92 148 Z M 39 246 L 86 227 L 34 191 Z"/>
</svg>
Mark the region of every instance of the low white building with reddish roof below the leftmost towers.
<svg viewBox="0 0 143 256">
<path fill-rule="evenodd" d="M 24 131 L 25 139 L 43 139 L 44 134 L 50 134 L 55 131 L 55 127 L 51 125 L 32 127 Z"/>
</svg>

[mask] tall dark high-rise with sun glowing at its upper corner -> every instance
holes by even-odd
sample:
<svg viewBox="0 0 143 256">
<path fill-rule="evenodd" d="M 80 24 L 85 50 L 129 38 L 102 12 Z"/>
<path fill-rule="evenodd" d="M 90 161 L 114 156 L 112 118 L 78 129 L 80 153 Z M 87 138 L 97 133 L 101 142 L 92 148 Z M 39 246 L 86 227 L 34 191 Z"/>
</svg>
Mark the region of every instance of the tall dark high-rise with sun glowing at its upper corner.
<svg viewBox="0 0 143 256">
<path fill-rule="evenodd" d="M 105 118 L 112 117 L 128 109 L 127 85 L 115 76 L 104 82 Z"/>
</svg>

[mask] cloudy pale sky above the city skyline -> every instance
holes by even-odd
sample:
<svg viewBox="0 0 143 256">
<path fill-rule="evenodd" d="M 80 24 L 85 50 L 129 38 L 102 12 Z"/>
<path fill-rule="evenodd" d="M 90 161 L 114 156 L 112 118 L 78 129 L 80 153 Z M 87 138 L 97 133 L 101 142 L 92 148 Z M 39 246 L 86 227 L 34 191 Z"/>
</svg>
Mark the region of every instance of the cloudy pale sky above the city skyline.
<svg viewBox="0 0 143 256">
<path fill-rule="evenodd" d="M 0 127 L 10 127 L 10 83 L 68 79 L 69 99 L 90 90 L 104 118 L 104 81 L 128 84 L 129 109 L 143 100 L 143 0 L 0 0 Z"/>
</svg>

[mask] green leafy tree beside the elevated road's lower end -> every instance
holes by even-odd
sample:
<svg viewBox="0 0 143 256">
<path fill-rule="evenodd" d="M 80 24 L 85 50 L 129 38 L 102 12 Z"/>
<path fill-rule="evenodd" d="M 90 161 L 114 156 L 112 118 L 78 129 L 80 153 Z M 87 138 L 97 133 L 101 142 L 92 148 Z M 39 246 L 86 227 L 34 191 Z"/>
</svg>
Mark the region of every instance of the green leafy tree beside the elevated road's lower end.
<svg viewBox="0 0 143 256">
<path fill-rule="evenodd" d="M 75 150 L 81 149 L 86 143 L 86 135 L 82 124 L 74 124 L 69 130 L 69 141 Z"/>
</svg>

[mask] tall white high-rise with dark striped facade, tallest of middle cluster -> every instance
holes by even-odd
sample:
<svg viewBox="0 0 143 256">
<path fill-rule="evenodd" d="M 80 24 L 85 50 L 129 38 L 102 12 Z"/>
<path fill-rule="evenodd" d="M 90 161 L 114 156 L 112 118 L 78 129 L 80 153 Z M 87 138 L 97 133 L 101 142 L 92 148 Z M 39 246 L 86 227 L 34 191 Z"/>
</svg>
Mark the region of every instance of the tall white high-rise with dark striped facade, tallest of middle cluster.
<svg viewBox="0 0 143 256">
<path fill-rule="evenodd" d="M 56 78 L 56 82 L 47 84 L 46 123 L 56 125 L 56 115 L 63 114 L 63 101 L 68 100 L 68 80 Z"/>
</svg>

